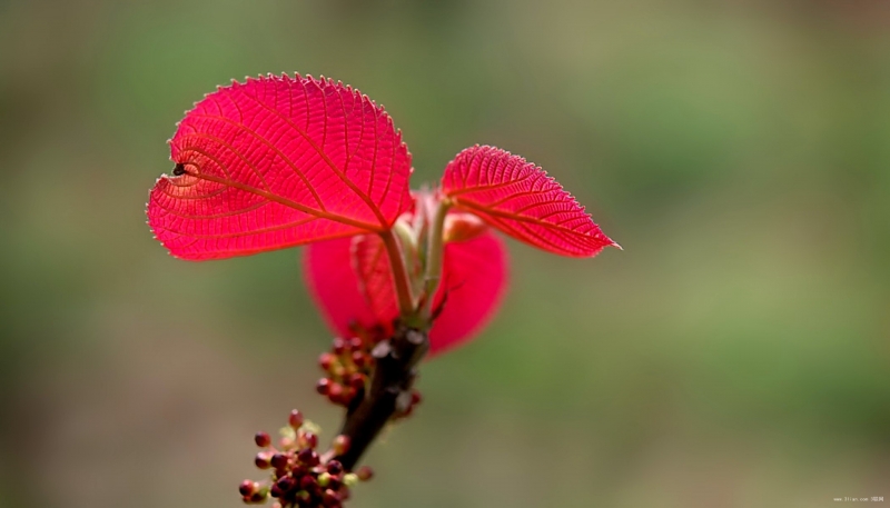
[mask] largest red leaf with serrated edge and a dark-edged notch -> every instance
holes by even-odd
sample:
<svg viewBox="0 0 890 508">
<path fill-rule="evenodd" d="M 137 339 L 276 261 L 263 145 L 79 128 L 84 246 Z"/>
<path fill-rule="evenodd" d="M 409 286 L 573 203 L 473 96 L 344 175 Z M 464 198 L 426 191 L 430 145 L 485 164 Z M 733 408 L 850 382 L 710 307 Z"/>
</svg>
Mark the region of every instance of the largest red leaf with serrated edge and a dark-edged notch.
<svg viewBox="0 0 890 508">
<path fill-rule="evenodd" d="M 148 221 L 174 256 L 215 259 L 392 227 L 411 155 L 358 90 L 296 76 L 220 87 L 170 140 Z"/>
</svg>

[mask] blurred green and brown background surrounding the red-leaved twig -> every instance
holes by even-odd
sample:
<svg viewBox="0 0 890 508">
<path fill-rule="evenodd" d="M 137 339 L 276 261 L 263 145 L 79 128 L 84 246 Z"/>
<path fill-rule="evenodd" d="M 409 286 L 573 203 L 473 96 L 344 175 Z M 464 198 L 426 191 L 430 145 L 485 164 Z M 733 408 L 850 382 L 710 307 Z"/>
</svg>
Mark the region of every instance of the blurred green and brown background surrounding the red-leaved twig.
<svg viewBox="0 0 890 508">
<path fill-rule="evenodd" d="M 890 3 L 0 1 L 0 506 L 237 507 L 329 333 L 298 250 L 207 263 L 145 202 L 182 111 L 299 71 L 415 185 L 522 153 L 622 243 L 512 287 L 349 506 L 890 502 Z"/>
</svg>

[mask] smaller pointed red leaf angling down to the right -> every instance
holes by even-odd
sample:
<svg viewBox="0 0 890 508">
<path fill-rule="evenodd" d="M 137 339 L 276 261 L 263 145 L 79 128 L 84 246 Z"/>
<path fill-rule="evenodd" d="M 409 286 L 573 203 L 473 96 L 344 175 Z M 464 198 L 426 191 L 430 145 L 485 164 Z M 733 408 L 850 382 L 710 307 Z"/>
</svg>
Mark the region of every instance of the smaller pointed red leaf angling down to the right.
<svg viewBox="0 0 890 508">
<path fill-rule="evenodd" d="M 541 168 L 498 148 L 467 148 L 445 168 L 442 188 L 458 207 L 534 247 L 574 257 L 617 243 Z"/>
</svg>

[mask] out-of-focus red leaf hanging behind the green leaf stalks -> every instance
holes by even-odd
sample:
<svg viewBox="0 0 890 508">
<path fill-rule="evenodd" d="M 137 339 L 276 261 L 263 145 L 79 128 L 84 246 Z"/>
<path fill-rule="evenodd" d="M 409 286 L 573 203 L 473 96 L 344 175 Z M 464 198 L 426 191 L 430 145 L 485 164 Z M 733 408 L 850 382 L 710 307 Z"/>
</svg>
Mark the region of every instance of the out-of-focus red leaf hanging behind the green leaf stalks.
<svg viewBox="0 0 890 508">
<path fill-rule="evenodd" d="M 309 290 L 330 327 L 342 335 L 350 333 L 352 322 L 365 327 L 388 326 L 398 313 L 392 288 L 363 292 L 365 282 L 359 279 L 360 272 L 353 269 L 355 259 L 350 259 L 355 252 L 354 241 L 360 240 L 314 243 L 306 249 L 304 258 Z M 429 331 L 434 355 L 465 342 L 494 315 L 506 288 L 506 249 L 492 231 L 472 240 L 449 242 L 445 246 L 442 275 L 433 308 L 446 300 Z M 369 297 L 375 300 L 369 301 Z M 388 315 L 380 316 L 375 309 L 389 310 Z"/>
</svg>

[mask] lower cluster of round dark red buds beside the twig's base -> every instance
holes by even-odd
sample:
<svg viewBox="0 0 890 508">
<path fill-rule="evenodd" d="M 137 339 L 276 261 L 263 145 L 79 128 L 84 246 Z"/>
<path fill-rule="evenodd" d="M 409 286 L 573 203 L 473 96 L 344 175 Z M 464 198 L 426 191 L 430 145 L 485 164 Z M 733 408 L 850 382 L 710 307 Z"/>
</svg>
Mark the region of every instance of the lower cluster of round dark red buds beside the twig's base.
<svg viewBox="0 0 890 508">
<path fill-rule="evenodd" d="M 353 485 L 373 476 L 366 466 L 350 472 L 338 460 L 328 458 L 330 454 L 320 456 L 316 451 L 318 428 L 305 421 L 299 411 L 290 412 L 288 424 L 281 429 L 277 448 L 266 432 L 257 432 L 254 438 L 263 448 L 255 464 L 259 469 L 270 470 L 271 475 L 267 481 L 244 480 L 238 487 L 244 502 L 256 505 L 273 497 L 276 499 L 274 508 L 339 508 L 349 498 Z M 348 449 L 348 437 L 334 439 L 334 456 Z"/>
</svg>

